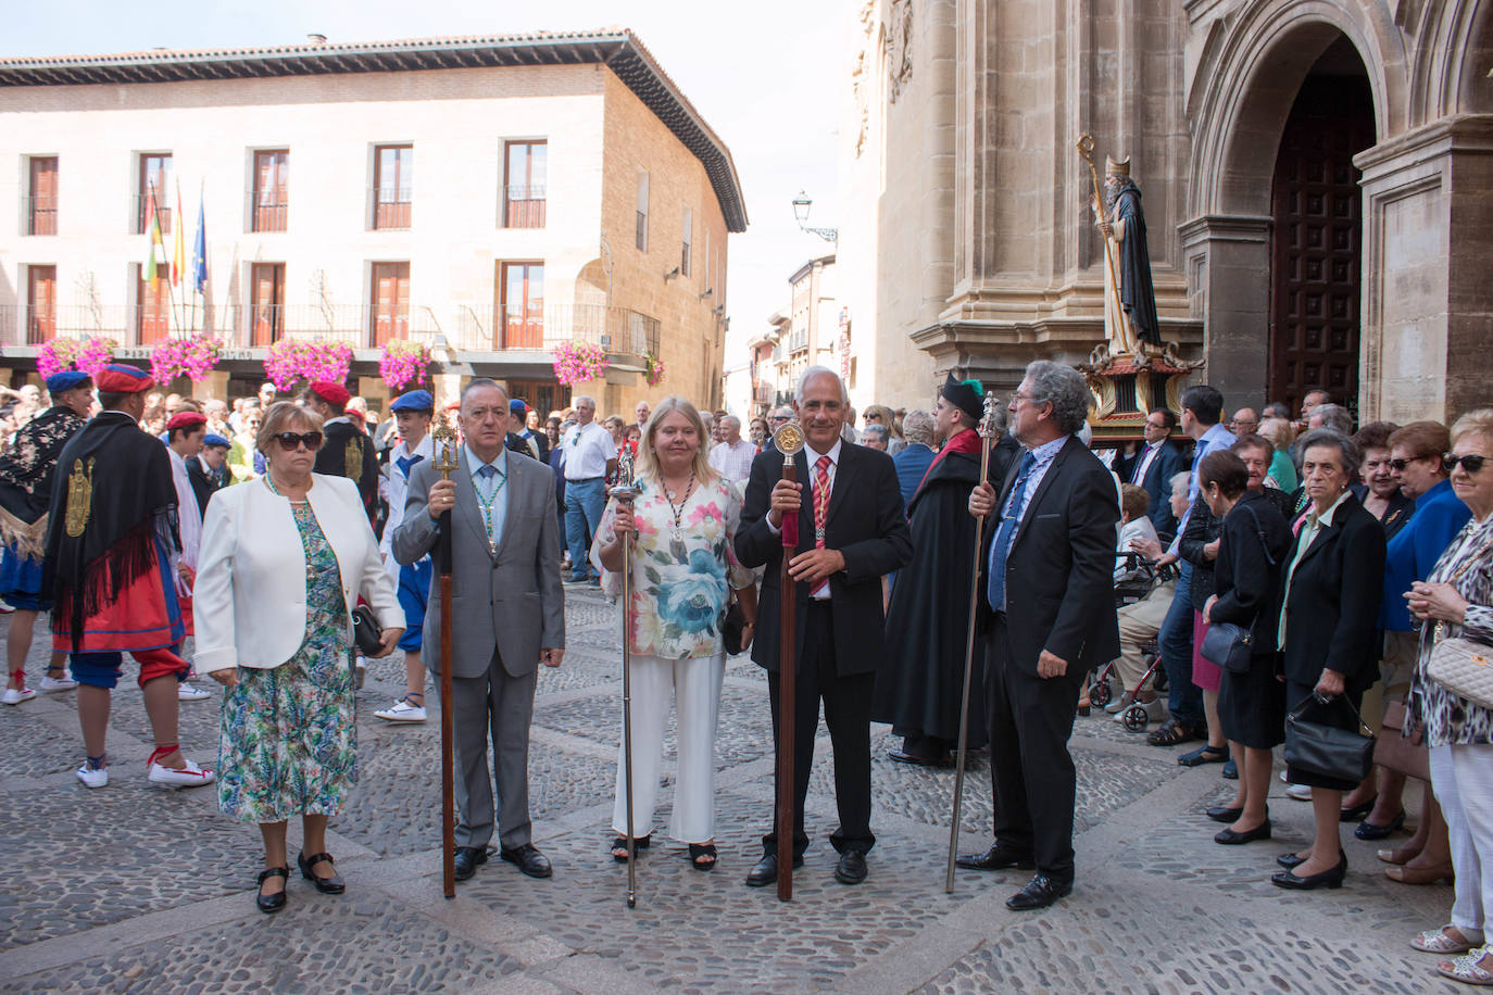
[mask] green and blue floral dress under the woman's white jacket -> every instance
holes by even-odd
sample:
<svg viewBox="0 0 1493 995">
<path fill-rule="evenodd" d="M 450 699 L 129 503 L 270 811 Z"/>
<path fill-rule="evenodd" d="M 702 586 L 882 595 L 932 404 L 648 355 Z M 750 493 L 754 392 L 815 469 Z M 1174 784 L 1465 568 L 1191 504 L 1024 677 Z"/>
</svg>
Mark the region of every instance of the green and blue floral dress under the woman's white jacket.
<svg viewBox="0 0 1493 995">
<path fill-rule="evenodd" d="M 279 667 L 239 667 L 222 701 L 218 804 L 242 822 L 336 814 L 358 780 L 337 556 L 308 501 L 291 501 L 291 513 L 306 558 L 306 635 Z"/>
</svg>

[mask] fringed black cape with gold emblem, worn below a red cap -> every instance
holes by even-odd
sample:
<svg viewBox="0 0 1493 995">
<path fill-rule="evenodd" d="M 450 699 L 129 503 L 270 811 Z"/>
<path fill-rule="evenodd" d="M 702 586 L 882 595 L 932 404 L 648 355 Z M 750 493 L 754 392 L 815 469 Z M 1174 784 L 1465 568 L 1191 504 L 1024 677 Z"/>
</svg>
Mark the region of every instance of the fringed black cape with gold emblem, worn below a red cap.
<svg viewBox="0 0 1493 995">
<path fill-rule="evenodd" d="M 82 641 L 84 619 L 155 567 L 155 540 L 181 549 L 172 458 L 121 412 L 105 412 L 63 446 L 46 530 L 42 591 Z"/>
</svg>

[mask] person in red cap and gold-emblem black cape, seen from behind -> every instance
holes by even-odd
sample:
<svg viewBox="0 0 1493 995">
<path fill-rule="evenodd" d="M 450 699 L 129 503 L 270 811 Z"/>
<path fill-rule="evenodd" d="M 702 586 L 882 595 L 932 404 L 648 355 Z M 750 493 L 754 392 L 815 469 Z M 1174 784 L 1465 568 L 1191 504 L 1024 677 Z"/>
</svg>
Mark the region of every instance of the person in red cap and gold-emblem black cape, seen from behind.
<svg viewBox="0 0 1493 995">
<path fill-rule="evenodd" d="M 103 412 L 63 448 L 46 533 L 43 589 L 55 610 L 52 638 L 72 653 L 87 759 L 78 780 L 109 783 L 105 737 L 124 653 L 140 665 L 145 712 L 155 734 L 149 780 L 209 785 L 176 744 L 176 686 L 188 670 L 172 652 L 184 637 L 176 603 L 176 488 L 166 448 L 140 431 L 148 373 L 107 365 L 96 377 Z"/>
</svg>

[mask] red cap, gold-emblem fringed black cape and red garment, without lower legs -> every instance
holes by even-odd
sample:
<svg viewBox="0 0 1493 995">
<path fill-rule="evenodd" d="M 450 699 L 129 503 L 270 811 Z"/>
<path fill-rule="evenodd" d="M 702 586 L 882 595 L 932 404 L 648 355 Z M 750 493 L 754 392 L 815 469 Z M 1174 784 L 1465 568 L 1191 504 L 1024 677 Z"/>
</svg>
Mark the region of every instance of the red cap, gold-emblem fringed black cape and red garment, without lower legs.
<svg viewBox="0 0 1493 995">
<path fill-rule="evenodd" d="M 154 380 L 109 365 L 103 392 L 137 392 Z M 185 674 L 176 655 L 185 628 L 176 600 L 181 540 L 166 448 L 124 412 L 103 412 L 63 448 L 46 536 L 46 582 L 55 601 L 57 652 L 72 653 L 73 679 L 113 688 L 122 655 L 140 664 L 140 686 Z"/>
</svg>

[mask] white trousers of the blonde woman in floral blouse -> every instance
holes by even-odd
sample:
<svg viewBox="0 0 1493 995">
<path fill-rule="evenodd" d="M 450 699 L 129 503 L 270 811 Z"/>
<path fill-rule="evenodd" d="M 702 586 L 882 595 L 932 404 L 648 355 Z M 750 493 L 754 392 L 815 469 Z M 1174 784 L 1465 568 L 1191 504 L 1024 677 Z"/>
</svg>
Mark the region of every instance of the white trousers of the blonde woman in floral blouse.
<svg viewBox="0 0 1493 995">
<path fill-rule="evenodd" d="M 721 710 L 726 656 L 660 659 L 633 655 L 633 834 L 652 831 L 658 767 L 669 703 L 678 713 L 678 780 L 669 835 L 679 843 L 715 838 L 715 725 Z M 627 835 L 624 744 L 617 747 L 617 804 L 612 829 Z"/>
</svg>

